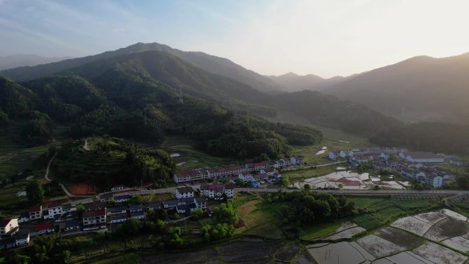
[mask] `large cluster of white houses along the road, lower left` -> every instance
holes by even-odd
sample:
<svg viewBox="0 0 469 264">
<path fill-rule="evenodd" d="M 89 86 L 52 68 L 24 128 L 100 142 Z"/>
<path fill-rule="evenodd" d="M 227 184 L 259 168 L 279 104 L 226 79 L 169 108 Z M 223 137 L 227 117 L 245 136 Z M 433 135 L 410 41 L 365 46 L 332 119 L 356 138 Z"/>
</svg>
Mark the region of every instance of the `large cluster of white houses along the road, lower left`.
<svg viewBox="0 0 469 264">
<path fill-rule="evenodd" d="M 119 191 L 119 190 L 117 190 Z M 189 214 L 201 209 L 209 216 L 211 211 L 207 201 L 223 200 L 234 196 L 234 184 L 202 184 L 200 197 L 195 197 L 192 187 L 178 187 L 176 198 L 148 204 L 128 204 L 131 195 L 119 193 L 103 193 L 83 204 L 84 211 L 80 215 L 77 206 L 71 203 L 53 204 L 43 208 L 32 206 L 19 217 L 0 219 L 0 250 L 7 250 L 29 244 L 29 239 L 37 235 L 54 232 L 77 232 L 112 228 L 130 218 L 144 219 L 147 212 L 162 208 L 178 214 Z M 21 226 L 20 226 L 21 225 Z M 20 228 L 21 227 L 21 228 Z"/>
</svg>

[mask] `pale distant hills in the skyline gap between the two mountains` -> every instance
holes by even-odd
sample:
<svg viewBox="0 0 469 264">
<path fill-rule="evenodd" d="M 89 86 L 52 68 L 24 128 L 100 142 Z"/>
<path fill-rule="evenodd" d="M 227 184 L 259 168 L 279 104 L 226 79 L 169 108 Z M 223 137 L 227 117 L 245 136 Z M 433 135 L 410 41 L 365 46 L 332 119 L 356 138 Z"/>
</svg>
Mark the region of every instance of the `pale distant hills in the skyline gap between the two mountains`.
<svg viewBox="0 0 469 264">
<path fill-rule="evenodd" d="M 353 75 L 352 75 L 353 76 Z M 352 77 L 350 76 L 350 77 Z M 273 80 L 282 88 L 282 91 L 285 92 L 296 92 L 303 90 L 319 91 L 324 88 L 328 88 L 335 84 L 344 82 L 344 80 L 349 79 L 350 77 L 335 76 L 328 79 L 324 79 L 320 76 L 308 74 L 308 75 L 298 75 L 296 73 L 285 73 L 284 75 L 266 76 L 269 79 Z"/>
</svg>

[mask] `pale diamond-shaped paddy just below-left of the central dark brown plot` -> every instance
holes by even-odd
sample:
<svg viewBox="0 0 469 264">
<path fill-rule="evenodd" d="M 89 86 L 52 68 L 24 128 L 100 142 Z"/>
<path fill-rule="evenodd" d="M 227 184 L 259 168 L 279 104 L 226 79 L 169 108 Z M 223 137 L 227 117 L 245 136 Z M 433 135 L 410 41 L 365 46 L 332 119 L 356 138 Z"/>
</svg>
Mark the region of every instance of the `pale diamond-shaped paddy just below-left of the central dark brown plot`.
<svg viewBox="0 0 469 264">
<path fill-rule="evenodd" d="M 396 254 L 397 252 L 405 251 L 405 248 L 382 239 L 381 237 L 376 237 L 375 235 L 362 237 L 357 240 L 357 243 L 376 258 L 382 258 L 383 256 L 389 256 Z"/>
</svg>

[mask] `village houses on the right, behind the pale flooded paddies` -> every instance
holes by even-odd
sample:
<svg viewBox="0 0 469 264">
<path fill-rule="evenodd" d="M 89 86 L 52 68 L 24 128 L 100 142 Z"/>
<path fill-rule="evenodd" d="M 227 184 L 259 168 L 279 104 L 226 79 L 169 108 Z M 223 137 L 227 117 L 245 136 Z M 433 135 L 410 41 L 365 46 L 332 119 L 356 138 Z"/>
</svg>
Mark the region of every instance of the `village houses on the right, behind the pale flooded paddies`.
<svg viewBox="0 0 469 264">
<path fill-rule="evenodd" d="M 390 156 L 395 155 L 396 159 Z M 442 188 L 444 180 L 453 180 L 454 175 L 446 169 L 437 167 L 444 163 L 444 154 L 431 152 L 408 152 L 402 148 L 350 149 L 329 152 L 329 158 L 347 158 L 350 164 L 358 167 L 361 164 L 372 165 L 376 170 L 400 172 L 402 176 L 421 182 L 426 187 Z"/>
</svg>

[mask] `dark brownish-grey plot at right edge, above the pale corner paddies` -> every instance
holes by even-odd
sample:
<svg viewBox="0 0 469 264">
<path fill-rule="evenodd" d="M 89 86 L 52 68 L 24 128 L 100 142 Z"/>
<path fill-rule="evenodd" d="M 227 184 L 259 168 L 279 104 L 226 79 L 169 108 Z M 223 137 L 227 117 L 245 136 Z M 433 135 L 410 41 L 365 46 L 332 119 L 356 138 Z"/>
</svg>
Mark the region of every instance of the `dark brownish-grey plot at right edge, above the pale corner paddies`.
<svg viewBox="0 0 469 264">
<path fill-rule="evenodd" d="M 457 237 L 468 230 L 468 223 L 449 217 L 432 226 L 424 237 L 434 241 L 442 241 L 450 237 Z"/>
</svg>

